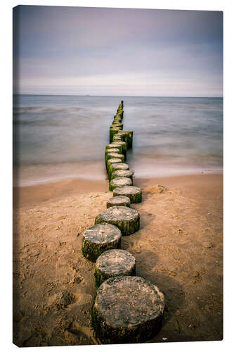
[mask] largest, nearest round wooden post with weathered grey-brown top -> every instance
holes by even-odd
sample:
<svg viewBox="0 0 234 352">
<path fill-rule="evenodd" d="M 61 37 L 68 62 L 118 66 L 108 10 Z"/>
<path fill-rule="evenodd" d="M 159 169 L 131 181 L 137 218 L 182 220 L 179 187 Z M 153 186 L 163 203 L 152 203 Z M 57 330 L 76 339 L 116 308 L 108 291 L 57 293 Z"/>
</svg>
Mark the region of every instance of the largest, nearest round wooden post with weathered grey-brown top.
<svg viewBox="0 0 234 352">
<path fill-rule="evenodd" d="M 162 292 L 136 276 L 103 282 L 91 310 L 93 328 L 104 344 L 147 341 L 160 329 L 163 313 Z"/>
</svg>

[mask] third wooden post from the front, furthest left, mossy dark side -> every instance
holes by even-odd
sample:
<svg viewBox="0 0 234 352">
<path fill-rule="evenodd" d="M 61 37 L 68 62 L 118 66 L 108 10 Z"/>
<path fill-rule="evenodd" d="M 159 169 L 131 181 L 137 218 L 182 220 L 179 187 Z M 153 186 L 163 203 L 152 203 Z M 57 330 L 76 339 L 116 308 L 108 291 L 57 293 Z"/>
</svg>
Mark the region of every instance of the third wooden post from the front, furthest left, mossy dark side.
<svg viewBox="0 0 234 352">
<path fill-rule="evenodd" d="M 112 224 L 97 224 L 89 227 L 82 239 L 82 252 L 85 258 L 96 262 L 98 256 L 108 249 L 119 249 L 122 234 Z"/>
</svg>

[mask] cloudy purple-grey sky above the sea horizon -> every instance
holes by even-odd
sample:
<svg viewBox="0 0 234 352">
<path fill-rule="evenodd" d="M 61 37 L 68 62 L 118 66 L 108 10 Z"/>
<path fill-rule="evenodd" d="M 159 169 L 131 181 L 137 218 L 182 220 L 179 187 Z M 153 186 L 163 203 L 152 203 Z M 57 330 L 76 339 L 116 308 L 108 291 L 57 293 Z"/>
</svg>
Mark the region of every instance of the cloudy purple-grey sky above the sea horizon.
<svg viewBox="0 0 234 352">
<path fill-rule="evenodd" d="M 223 96 L 223 13 L 13 10 L 13 92 Z"/>
</svg>

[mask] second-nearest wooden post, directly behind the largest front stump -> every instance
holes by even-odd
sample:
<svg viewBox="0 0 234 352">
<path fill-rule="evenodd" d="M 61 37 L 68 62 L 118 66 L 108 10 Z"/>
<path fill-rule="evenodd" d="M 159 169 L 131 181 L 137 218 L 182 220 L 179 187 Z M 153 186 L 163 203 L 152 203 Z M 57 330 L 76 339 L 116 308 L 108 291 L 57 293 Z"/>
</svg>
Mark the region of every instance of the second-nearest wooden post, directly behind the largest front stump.
<svg viewBox="0 0 234 352">
<path fill-rule="evenodd" d="M 105 251 L 96 261 L 94 272 L 96 287 L 110 277 L 134 275 L 136 275 L 136 260 L 131 253 L 123 249 Z"/>
</svg>

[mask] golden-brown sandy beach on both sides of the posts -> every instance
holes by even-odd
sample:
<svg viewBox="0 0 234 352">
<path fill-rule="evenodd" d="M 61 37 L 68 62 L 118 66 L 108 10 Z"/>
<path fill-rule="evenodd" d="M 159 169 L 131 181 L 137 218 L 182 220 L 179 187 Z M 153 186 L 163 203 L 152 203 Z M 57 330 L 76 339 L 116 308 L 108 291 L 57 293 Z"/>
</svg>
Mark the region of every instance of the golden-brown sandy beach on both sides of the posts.
<svg viewBox="0 0 234 352">
<path fill-rule="evenodd" d="M 141 230 L 123 237 L 136 275 L 164 292 L 166 310 L 150 342 L 222 339 L 223 177 L 136 179 Z M 162 185 L 163 187 L 159 187 Z M 99 344 L 91 327 L 94 264 L 82 234 L 112 196 L 108 181 L 66 180 L 14 190 L 14 343 Z"/>
</svg>

